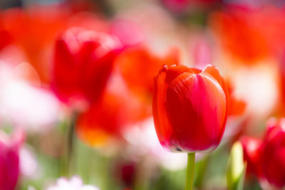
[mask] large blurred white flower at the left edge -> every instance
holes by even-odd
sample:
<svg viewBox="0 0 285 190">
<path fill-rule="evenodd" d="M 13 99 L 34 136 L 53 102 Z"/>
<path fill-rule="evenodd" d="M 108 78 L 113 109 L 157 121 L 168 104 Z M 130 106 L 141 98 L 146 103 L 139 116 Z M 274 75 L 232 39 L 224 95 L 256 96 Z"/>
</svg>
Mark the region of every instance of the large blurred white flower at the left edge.
<svg viewBox="0 0 285 190">
<path fill-rule="evenodd" d="M 60 103 L 51 92 L 21 77 L 31 69 L 28 63 L 12 67 L 0 60 L 1 122 L 11 121 L 28 132 L 44 132 L 57 121 Z"/>
</svg>

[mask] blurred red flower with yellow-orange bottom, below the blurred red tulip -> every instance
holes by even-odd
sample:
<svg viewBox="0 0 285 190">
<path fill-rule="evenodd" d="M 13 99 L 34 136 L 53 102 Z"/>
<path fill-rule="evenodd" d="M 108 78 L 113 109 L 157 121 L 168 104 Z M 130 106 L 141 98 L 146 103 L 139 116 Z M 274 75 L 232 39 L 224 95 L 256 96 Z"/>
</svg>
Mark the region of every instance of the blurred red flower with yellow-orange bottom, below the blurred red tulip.
<svg viewBox="0 0 285 190">
<path fill-rule="evenodd" d="M 147 105 L 133 95 L 108 90 L 100 102 L 79 115 L 76 134 L 86 144 L 102 147 L 110 139 L 122 139 L 126 127 L 149 115 Z"/>
</svg>

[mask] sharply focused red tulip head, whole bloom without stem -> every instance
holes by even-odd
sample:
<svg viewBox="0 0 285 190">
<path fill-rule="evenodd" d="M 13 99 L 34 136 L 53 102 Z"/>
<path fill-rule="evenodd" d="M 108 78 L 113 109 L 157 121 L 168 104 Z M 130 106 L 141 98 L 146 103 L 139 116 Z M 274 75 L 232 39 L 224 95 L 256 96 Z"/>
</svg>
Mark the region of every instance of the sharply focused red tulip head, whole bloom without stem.
<svg viewBox="0 0 285 190">
<path fill-rule="evenodd" d="M 219 70 L 163 66 L 155 78 L 153 117 L 162 147 L 171 151 L 212 151 L 227 121 L 227 87 Z"/>
</svg>

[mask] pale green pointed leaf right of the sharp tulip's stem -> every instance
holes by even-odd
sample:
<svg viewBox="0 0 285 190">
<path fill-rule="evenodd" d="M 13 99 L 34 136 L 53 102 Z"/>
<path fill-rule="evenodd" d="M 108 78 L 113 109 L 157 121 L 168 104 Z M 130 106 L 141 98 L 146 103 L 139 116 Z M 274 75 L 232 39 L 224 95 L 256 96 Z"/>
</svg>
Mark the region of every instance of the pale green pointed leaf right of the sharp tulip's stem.
<svg viewBox="0 0 285 190">
<path fill-rule="evenodd" d="M 244 164 L 242 144 L 235 142 L 229 154 L 227 166 L 227 187 L 229 190 L 242 190 L 247 165 Z"/>
</svg>

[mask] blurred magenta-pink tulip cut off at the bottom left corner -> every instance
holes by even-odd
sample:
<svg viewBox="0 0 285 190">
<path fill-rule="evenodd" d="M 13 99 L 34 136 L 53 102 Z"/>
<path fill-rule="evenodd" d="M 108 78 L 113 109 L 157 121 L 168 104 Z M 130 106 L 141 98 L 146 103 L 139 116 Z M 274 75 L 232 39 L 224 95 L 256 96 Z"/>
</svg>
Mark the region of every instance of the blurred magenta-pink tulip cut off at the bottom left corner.
<svg viewBox="0 0 285 190">
<path fill-rule="evenodd" d="M 19 148 L 23 135 L 16 134 L 12 139 L 0 135 L 0 189 L 13 190 L 19 178 Z"/>
</svg>

